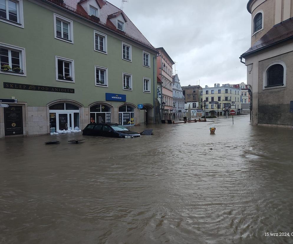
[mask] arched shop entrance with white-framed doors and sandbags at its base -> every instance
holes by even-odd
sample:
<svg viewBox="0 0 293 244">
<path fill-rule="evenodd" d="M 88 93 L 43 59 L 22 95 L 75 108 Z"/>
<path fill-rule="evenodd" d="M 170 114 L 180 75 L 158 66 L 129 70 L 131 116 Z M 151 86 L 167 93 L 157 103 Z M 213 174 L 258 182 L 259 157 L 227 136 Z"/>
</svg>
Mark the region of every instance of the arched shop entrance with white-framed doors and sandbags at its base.
<svg viewBox="0 0 293 244">
<path fill-rule="evenodd" d="M 57 130 L 80 130 L 80 108 L 72 103 L 49 106 L 50 133 Z"/>
</svg>

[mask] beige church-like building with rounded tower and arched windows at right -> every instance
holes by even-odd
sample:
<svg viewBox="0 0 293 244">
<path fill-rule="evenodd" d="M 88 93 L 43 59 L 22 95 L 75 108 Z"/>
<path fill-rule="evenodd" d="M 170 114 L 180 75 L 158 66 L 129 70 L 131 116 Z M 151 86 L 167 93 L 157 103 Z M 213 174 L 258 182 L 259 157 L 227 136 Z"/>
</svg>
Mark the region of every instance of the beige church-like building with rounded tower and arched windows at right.
<svg viewBox="0 0 293 244">
<path fill-rule="evenodd" d="M 251 47 L 240 56 L 247 66 L 251 123 L 292 126 L 293 1 L 249 0 Z"/>
</svg>

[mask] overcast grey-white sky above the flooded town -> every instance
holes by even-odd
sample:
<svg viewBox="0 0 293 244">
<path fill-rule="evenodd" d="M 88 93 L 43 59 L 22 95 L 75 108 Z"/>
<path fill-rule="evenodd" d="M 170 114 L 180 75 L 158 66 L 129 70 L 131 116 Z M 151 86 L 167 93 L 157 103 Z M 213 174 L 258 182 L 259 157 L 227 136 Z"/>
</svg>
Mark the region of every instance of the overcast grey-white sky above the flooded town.
<svg viewBox="0 0 293 244">
<path fill-rule="evenodd" d="M 108 0 L 118 8 L 121 0 Z M 248 0 L 129 0 L 124 12 L 154 47 L 164 47 L 184 85 L 246 83 L 239 56 L 250 47 Z M 174 73 L 174 65 L 173 65 Z"/>
</svg>

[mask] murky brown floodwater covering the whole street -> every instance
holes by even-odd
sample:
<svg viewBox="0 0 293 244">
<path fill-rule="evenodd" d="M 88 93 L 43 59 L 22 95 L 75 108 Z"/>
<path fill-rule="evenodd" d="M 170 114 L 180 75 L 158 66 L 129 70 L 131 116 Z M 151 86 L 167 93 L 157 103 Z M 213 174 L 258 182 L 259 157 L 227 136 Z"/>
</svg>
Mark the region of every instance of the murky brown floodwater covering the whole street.
<svg viewBox="0 0 293 244">
<path fill-rule="evenodd" d="M 293 243 L 293 130 L 208 120 L 1 140 L 0 243 Z"/>
</svg>

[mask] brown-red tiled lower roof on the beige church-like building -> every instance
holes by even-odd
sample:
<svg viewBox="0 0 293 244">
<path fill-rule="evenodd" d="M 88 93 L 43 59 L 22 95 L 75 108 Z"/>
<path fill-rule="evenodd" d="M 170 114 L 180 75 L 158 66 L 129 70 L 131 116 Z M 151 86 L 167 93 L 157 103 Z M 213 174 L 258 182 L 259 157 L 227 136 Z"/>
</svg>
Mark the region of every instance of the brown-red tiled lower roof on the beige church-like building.
<svg viewBox="0 0 293 244">
<path fill-rule="evenodd" d="M 285 20 L 280 24 L 273 26 L 261 39 L 259 39 L 252 47 L 250 47 L 240 58 L 245 58 L 255 52 L 263 50 L 272 45 L 284 42 L 293 38 L 293 18 Z"/>
</svg>

